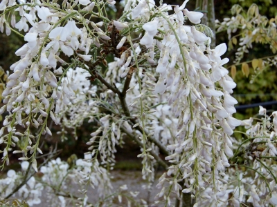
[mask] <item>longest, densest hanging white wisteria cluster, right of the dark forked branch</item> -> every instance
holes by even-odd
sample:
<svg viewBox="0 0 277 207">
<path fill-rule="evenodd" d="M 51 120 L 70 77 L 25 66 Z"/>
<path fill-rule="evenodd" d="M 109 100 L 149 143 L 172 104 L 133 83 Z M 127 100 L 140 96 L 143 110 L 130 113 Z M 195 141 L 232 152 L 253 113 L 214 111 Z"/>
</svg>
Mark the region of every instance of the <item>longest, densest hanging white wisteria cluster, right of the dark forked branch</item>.
<svg viewBox="0 0 277 207">
<path fill-rule="evenodd" d="M 204 26 L 184 25 L 185 18 L 192 23 L 199 23 L 203 16 L 202 13 L 184 9 L 186 2 L 181 7 L 175 6 L 174 15 L 168 14 L 168 10 L 172 10 L 171 6 L 163 5 L 159 10 L 153 8 L 152 12 L 156 14 L 155 17 L 152 21 L 143 24 L 142 28 L 145 32 L 140 40 L 140 47 L 144 46 L 148 52 L 136 57 L 136 49 L 139 46 L 134 45 L 131 55 L 134 56 L 133 59 L 137 58 L 137 60 L 134 60 L 133 65 L 136 66 L 141 57 L 148 61 L 148 67 L 157 64 L 155 72 L 159 74 L 158 81 L 155 83 L 155 77 L 146 72 L 139 72 L 141 88 L 136 77 L 133 77 L 136 79 L 132 81 L 133 85 L 131 85 L 133 93 L 128 92 L 127 100 L 130 100 L 128 102 L 134 109 L 138 105 L 135 104 L 138 103 L 138 99 L 147 100 L 143 106 L 148 107 L 163 101 L 168 103 L 166 107 L 160 105 L 156 108 L 160 112 L 155 112 L 154 117 L 159 121 L 152 121 L 153 117 L 149 117 L 150 120 L 145 119 L 145 121 L 155 126 L 153 127 L 155 128 L 155 138 L 161 139 L 163 144 L 170 144 L 167 148 L 172 154 L 170 153 L 166 160 L 174 165 L 171 165 L 168 175 L 181 175 L 186 182 L 186 189 L 183 192 L 196 194 L 199 192 L 199 188 L 206 187 L 202 177 L 207 176 L 210 172 L 213 172 L 211 179 L 216 180 L 215 184 L 218 186 L 213 190 L 220 190 L 219 186 L 222 181 L 220 181 L 219 174 L 229 167 L 227 157 L 233 156 L 231 150 L 231 140 L 233 139 L 230 136 L 233 134 L 235 126 L 240 125 L 240 121 L 231 117 L 235 112 L 234 105 L 238 103 L 230 95 L 233 92 L 232 89 L 235 88 L 235 83 L 227 75 L 228 70 L 222 67 L 229 59 L 220 58 L 226 52 L 226 45 L 221 44 L 215 49 L 211 49 L 209 48 L 211 39 L 206 34 L 199 32 L 199 29 Z M 145 8 L 151 8 L 154 3 L 149 4 L 150 6 L 145 6 Z M 143 7 L 143 1 L 134 6 L 130 19 L 151 17 L 146 9 L 142 10 L 140 7 Z M 137 8 L 140 9 L 137 11 Z M 210 32 L 207 28 L 205 29 L 206 33 Z M 125 77 L 130 71 L 130 68 L 127 67 L 129 66 L 128 60 L 124 55 L 118 60 L 118 66 L 122 66 L 120 70 L 123 71 L 121 77 Z M 122 60 L 126 61 L 127 66 Z M 109 71 L 116 77 L 116 71 L 118 71 L 116 64 L 110 63 L 109 66 Z M 145 70 L 147 71 L 148 68 Z M 154 71 L 150 71 L 150 74 L 152 72 Z M 114 77 L 111 77 L 110 81 L 113 81 Z M 152 90 L 150 90 L 151 88 Z M 155 95 L 162 95 L 162 100 L 150 99 Z M 163 110 L 161 110 L 162 108 Z M 164 110 L 165 112 L 163 112 Z M 145 115 L 151 113 L 149 110 L 143 112 Z M 170 118 L 161 122 L 159 118 L 164 113 Z M 141 125 L 142 122 L 143 120 Z M 174 123 L 175 127 L 171 126 L 170 132 L 165 126 L 171 123 Z M 174 134 L 176 130 L 177 133 Z M 162 136 L 159 136 L 159 131 L 163 132 Z M 176 138 L 172 139 L 172 136 Z M 197 174 L 193 173 L 195 169 L 198 170 Z M 175 180 L 170 181 L 175 184 L 176 193 L 180 188 L 184 188 L 177 185 L 178 179 L 179 177 L 176 176 Z M 163 186 L 163 182 L 167 180 L 161 179 L 159 186 Z M 162 189 L 160 197 L 168 195 L 166 190 L 172 189 L 170 186 Z M 214 193 L 216 192 L 217 190 Z M 170 198 L 166 197 L 166 199 L 169 203 Z"/>
</svg>

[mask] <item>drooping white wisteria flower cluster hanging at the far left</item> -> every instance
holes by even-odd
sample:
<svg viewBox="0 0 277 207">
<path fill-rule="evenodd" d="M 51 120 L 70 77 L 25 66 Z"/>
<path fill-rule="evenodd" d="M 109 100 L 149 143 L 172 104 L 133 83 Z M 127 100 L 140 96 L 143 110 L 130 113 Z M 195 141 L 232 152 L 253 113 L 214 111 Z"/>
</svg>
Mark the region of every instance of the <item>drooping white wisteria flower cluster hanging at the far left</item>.
<svg viewBox="0 0 277 207">
<path fill-rule="evenodd" d="M 1 10 L 6 8 L 5 2 L 1 2 L 3 7 Z M 9 3 L 8 6 L 12 5 Z M 80 2 L 80 5 L 84 5 L 84 3 Z M 60 7 L 57 3 L 54 6 Z M 90 3 L 84 10 L 89 12 L 93 6 L 94 3 Z M 91 42 L 93 42 L 91 37 L 87 37 L 87 25 L 80 29 L 72 19 L 66 21 L 64 26 L 60 26 L 67 18 L 73 16 L 69 10 L 63 12 L 51 10 L 49 5 L 48 7 L 42 6 L 39 1 L 34 2 L 32 6 L 15 5 L 14 7 L 18 8 L 21 20 L 15 23 L 15 14 L 13 14 L 9 24 L 5 19 L 5 14 L 10 10 L 4 10 L 1 15 L 2 26 L 5 23 L 6 30 L 7 28 L 17 28 L 19 31 L 28 32 L 24 36 L 27 43 L 15 52 L 17 56 L 21 57 L 21 60 L 10 66 L 13 73 L 8 77 L 7 87 L 2 94 L 5 98 L 3 103 L 6 105 L 1 108 L 1 113 L 5 110 L 10 112 L 10 115 L 6 116 L 4 120 L 4 128 L 1 129 L 1 134 L 5 128 L 8 130 L 8 135 L 1 137 L 3 141 L 8 141 L 4 150 L 4 161 L 8 161 L 6 151 L 10 148 L 10 144 L 15 146 L 19 140 L 18 137 L 26 137 L 29 146 L 23 150 L 25 153 L 30 151 L 35 155 L 35 152 L 41 152 L 37 148 L 37 144 L 32 145 L 31 139 L 39 140 L 45 133 L 51 135 L 51 130 L 47 126 L 48 117 L 51 117 L 55 124 L 59 124 L 58 113 L 63 106 L 71 103 L 71 99 L 75 99 L 78 87 L 82 88 L 81 85 L 75 84 L 77 80 L 75 83 L 72 81 L 73 75 L 70 76 L 67 72 L 72 70 L 71 67 L 75 67 L 76 63 L 66 66 L 65 61 L 59 57 L 60 53 L 70 57 L 75 51 L 76 57 L 80 58 L 78 63 L 82 60 L 89 61 L 91 55 L 87 54 Z M 15 10 L 15 8 L 13 9 Z M 32 26 L 30 29 L 27 22 Z M 97 37 L 95 38 L 97 39 Z M 62 66 L 57 68 L 57 62 Z M 63 78 L 66 74 L 68 76 Z M 28 117 L 23 117 L 23 113 Z M 15 135 L 15 130 L 12 128 L 17 124 L 26 128 L 24 134 L 17 133 Z M 42 125 L 42 131 L 39 135 L 30 135 L 30 126 L 39 128 L 40 125 Z M 24 159 L 23 157 L 22 160 Z M 36 168 L 35 161 L 33 166 Z"/>
</svg>

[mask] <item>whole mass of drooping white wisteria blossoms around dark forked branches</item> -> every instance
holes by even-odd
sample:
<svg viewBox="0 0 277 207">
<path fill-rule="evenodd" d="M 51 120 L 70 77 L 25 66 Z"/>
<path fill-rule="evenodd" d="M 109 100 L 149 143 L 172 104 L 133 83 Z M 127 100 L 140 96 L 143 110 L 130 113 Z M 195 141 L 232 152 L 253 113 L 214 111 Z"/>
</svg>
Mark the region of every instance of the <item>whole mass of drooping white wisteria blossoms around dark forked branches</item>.
<svg viewBox="0 0 277 207">
<path fill-rule="evenodd" d="M 123 16 L 111 21 L 100 8 L 116 1 L 63 1 L 62 5 L 1 1 L 1 32 L 4 28 L 7 35 L 10 30 L 23 31 L 26 41 L 15 52 L 21 59 L 10 66 L 2 94 L 5 105 L 0 113 L 8 112 L 0 130 L 3 163 L 8 164 L 10 151 L 22 153 L 20 160 L 29 160 L 35 171 L 40 168 L 42 181 L 50 185 L 48 191 L 66 188 L 58 181 L 70 174 L 81 184 L 97 187 L 105 198 L 112 194 L 109 170 L 116 146 L 126 135 L 141 147 L 138 157 L 143 160 L 145 179 L 154 179 L 157 163 L 167 170 L 157 185 L 161 188 L 157 204 L 170 206 L 172 193 L 178 198 L 189 193 L 195 206 L 240 206 L 246 201 L 253 206 L 275 205 L 274 175 L 266 175 L 270 170 L 257 159 L 254 179 L 238 172 L 231 160 L 242 145 L 231 136 L 242 124 L 249 128 L 249 139 L 256 137 L 253 143 L 266 140 L 262 156 L 275 156 L 276 114 L 274 125 L 266 129 L 266 124 L 252 126 L 249 120 L 232 117 L 238 101 L 231 96 L 236 84 L 224 68 L 229 61 L 222 58 L 226 44 L 210 47 L 213 32 L 200 24 L 201 12 L 186 8 L 187 2 L 156 6 L 153 0 L 127 1 Z M 8 18 L 11 11 L 19 12 L 18 22 L 14 16 Z M 110 54 L 114 61 L 108 63 Z M 270 121 L 263 108 L 260 115 L 265 123 Z M 95 124 L 87 142 L 89 151 L 74 168 L 60 159 L 37 166 L 37 152 L 42 154 L 39 140 L 52 136 L 50 120 L 61 126 L 62 140 L 66 128 L 75 129 L 87 120 Z M 268 130 L 273 134 L 267 135 Z M 76 130 L 73 133 L 77 139 Z M 24 147 L 14 150 L 19 142 Z M 165 160 L 159 153 L 166 155 Z M 16 178 L 9 171 L 4 182 L 15 185 L 11 180 Z M 29 179 L 19 193 L 27 192 L 27 187 L 42 190 Z M 39 193 L 31 192 L 33 204 L 38 204 Z M 82 191 L 81 206 L 87 205 L 86 192 Z M 63 196 L 58 199 L 66 205 Z"/>
</svg>

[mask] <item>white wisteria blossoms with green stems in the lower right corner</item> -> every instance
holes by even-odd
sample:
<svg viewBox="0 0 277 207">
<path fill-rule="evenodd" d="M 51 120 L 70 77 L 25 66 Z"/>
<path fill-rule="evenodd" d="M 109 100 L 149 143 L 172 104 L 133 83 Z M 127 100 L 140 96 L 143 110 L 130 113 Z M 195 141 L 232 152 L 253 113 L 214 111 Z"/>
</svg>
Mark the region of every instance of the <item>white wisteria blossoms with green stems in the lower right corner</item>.
<svg viewBox="0 0 277 207">
<path fill-rule="evenodd" d="M 221 192 L 217 193 L 222 202 L 219 206 L 233 204 L 249 204 L 253 206 L 276 206 L 276 130 L 277 112 L 269 116 L 267 110 L 260 106 L 258 118 L 242 120 L 242 126 L 247 129 L 245 139 L 236 141 L 233 139 L 235 153 L 231 160 L 240 157 L 244 159 L 242 164 L 233 164 L 225 173 L 221 173 L 222 179 L 229 181 L 222 185 Z M 237 178 L 235 179 L 236 176 Z M 233 179 L 232 183 L 230 182 Z M 233 196 L 231 199 L 229 195 Z M 211 195 L 211 188 L 206 188 L 204 195 Z M 211 201 L 202 200 L 200 205 L 211 204 Z"/>
</svg>

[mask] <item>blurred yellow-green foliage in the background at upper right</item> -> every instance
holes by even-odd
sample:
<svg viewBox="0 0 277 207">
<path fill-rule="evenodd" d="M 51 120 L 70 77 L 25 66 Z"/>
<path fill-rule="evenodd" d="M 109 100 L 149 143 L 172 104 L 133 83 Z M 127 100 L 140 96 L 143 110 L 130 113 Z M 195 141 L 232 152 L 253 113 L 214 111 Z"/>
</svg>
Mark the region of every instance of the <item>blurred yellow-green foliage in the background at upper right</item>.
<svg viewBox="0 0 277 207">
<path fill-rule="evenodd" d="M 231 9 L 233 17 L 217 23 L 217 33 L 227 32 L 229 35 L 229 71 L 237 83 L 233 96 L 239 105 L 276 99 L 277 12 L 265 12 L 266 8 L 262 6 L 269 6 L 272 1 L 231 2 L 240 5 Z M 271 8 L 277 10 L 274 6 Z M 267 14 L 267 17 L 262 14 Z M 232 59 L 234 55 L 235 59 Z M 249 108 L 243 112 L 249 117 L 256 111 L 257 108 Z"/>
</svg>

